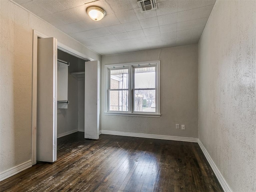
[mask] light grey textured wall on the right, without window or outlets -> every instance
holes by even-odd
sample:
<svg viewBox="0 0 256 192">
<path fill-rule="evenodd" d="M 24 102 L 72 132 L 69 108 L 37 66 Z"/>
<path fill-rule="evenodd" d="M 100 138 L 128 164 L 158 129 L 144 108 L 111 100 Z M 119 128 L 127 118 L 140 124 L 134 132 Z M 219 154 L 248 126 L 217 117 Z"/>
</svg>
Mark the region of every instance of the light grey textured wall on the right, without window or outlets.
<svg viewBox="0 0 256 192">
<path fill-rule="evenodd" d="M 199 139 L 235 192 L 256 191 L 255 8 L 218 0 L 199 43 Z"/>
</svg>

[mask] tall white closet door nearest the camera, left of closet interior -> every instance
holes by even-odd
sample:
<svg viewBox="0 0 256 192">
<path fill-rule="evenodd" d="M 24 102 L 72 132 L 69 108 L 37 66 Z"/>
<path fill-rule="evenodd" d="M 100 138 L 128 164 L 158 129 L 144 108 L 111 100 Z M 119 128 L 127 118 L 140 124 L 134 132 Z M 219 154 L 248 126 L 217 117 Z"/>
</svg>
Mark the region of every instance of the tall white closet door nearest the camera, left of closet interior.
<svg viewBox="0 0 256 192">
<path fill-rule="evenodd" d="M 57 40 L 38 39 L 36 160 L 57 160 Z"/>
</svg>

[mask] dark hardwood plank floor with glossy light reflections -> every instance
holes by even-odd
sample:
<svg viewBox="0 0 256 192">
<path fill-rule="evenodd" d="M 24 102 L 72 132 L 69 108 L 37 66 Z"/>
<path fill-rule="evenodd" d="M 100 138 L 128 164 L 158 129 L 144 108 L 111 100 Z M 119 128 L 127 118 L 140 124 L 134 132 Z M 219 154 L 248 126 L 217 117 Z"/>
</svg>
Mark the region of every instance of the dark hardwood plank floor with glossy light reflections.
<svg viewBox="0 0 256 192">
<path fill-rule="evenodd" d="M 199 145 L 82 132 L 58 139 L 58 160 L 0 182 L 1 192 L 222 192 Z"/>
</svg>

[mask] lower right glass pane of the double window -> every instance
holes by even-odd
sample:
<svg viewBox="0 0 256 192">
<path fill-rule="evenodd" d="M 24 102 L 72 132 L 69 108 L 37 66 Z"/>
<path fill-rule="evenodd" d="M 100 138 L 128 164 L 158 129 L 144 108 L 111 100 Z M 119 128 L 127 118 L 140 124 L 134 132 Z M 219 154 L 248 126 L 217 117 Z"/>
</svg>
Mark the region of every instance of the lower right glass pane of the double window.
<svg viewBox="0 0 256 192">
<path fill-rule="evenodd" d="M 156 90 L 135 90 L 134 111 L 156 112 Z"/>
</svg>

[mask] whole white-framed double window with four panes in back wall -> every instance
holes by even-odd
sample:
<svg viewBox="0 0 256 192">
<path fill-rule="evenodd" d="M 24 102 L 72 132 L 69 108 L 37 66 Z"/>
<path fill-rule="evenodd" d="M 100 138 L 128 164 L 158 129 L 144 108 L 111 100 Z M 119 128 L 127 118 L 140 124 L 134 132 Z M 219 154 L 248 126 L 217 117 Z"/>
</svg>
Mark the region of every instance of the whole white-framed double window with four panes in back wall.
<svg viewBox="0 0 256 192">
<path fill-rule="evenodd" d="M 160 116 L 160 61 L 106 65 L 105 114 Z"/>
</svg>

